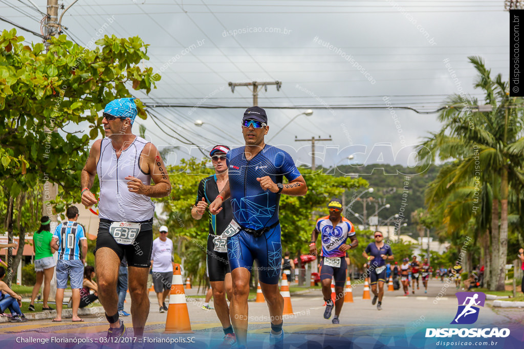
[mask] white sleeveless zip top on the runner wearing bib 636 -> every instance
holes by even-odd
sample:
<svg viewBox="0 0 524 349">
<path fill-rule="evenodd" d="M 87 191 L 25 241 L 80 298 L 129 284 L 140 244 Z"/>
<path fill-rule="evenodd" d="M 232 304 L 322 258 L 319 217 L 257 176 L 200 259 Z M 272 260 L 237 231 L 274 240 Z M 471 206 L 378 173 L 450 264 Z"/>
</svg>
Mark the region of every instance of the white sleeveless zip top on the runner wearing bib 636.
<svg viewBox="0 0 524 349">
<path fill-rule="evenodd" d="M 140 222 L 151 219 L 155 204 L 148 196 L 131 193 L 127 188 L 127 176 L 133 176 L 145 185 L 151 184 L 150 174 L 139 165 L 140 154 L 149 143 L 136 136 L 118 159 L 111 139 L 104 138 L 100 144 L 100 159 L 96 173 L 100 181 L 99 218 L 112 221 Z"/>
</svg>

